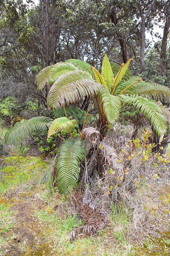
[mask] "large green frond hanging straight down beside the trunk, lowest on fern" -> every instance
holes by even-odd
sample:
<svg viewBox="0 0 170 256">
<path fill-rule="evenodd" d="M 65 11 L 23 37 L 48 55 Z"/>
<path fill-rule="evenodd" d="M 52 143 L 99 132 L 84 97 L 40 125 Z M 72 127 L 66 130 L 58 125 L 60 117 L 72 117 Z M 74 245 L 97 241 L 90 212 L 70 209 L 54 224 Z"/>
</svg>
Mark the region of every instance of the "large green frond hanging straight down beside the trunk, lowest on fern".
<svg viewBox="0 0 170 256">
<path fill-rule="evenodd" d="M 64 140 L 58 147 L 57 156 L 58 191 L 67 195 L 77 185 L 79 164 L 85 156 L 85 143 L 80 139 Z"/>
</svg>

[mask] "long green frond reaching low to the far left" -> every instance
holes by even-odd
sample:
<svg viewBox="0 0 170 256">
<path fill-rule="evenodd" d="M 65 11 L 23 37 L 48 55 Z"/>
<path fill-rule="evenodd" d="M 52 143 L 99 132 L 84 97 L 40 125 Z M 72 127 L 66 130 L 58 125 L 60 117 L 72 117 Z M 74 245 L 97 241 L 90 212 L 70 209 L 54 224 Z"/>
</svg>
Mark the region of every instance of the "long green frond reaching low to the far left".
<svg viewBox="0 0 170 256">
<path fill-rule="evenodd" d="M 53 119 L 46 116 L 36 116 L 29 120 L 17 122 L 4 136 L 6 144 L 13 144 L 18 140 L 31 136 L 33 132 L 47 130 Z"/>
</svg>

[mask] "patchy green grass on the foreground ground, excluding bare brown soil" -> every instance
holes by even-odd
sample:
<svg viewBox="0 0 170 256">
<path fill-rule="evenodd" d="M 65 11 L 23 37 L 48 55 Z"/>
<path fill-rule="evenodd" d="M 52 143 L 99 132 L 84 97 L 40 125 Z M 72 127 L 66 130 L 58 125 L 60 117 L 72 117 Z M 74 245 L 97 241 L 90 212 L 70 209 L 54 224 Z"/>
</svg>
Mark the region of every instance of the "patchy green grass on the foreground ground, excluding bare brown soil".
<svg viewBox="0 0 170 256">
<path fill-rule="evenodd" d="M 4 167 L 3 167 L 4 166 Z M 39 244 L 38 248 L 48 248 L 45 256 L 138 256 L 138 247 L 133 245 L 132 212 L 126 212 L 122 204 L 116 206 L 112 204 L 110 215 L 108 216 L 108 226 L 100 230 L 98 236 L 92 238 L 86 236 L 78 237 L 73 243 L 69 242 L 69 234 L 72 228 L 83 226 L 83 223 L 69 212 L 69 201 L 57 193 L 52 187 L 52 180 L 43 183 L 42 177 L 48 170 L 48 164 L 37 157 L 7 157 L 5 165 L 1 167 L 0 194 L 2 205 L 0 207 L 1 255 L 7 255 L 10 246 L 14 243 L 15 233 L 11 234 L 10 229 L 15 226 L 22 227 L 22 223 L 16 222 L 16 213 L 9 206 L 19 204 L 29 204 L 31 200 L 32 208 L 28 212 L 28 217 L 36 220 L 34 224 L 30 221 L 24 222 L 27 231 L 35 236 Z M 26 201 L 26 198 L 29 199 Z M 8 207 L 7 207 L 8 205 Z M 20 209 L 20 208 L 18 208 Z M 19 225 L 19 226 L 18 226 Z M 25 227 L 24 226 L 24 227 Z M 4 235 L 6 233 L 6 235 Z M 170 243 L 169 238 L 162 238 L 161 244 Z M 26 256 L 34 255 L 28 243 L 17 243 L 19 250 Z M 43 247 L 44 246 L 44 247 Z M 152 239 L 144 242 L 146 253 L 155 250 L 155 243 Z M 157 247 L 156 247 L 157 248 Z M 38 254 L 38 250 L 37 254 Z M 10 254 L 12 256 L 13 254 Z M 40 254 L 41 255 L 41 254 Z M 43 255 L 43 254 L 42 254 Z M 140 256 L 147 255 L 140 252 Z"/>
</svg>

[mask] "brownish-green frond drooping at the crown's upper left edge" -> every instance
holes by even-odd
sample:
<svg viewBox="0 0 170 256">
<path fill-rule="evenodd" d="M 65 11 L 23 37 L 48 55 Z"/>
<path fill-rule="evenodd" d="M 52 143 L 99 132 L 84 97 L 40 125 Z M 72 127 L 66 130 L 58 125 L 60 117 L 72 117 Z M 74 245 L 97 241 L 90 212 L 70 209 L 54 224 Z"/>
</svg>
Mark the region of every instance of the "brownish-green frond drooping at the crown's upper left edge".
<svg viewBox="0 0 170 256">
<path fill-rule="evenodd" d="M 35 83 L 37 84 L 39 90 L 42 90 L 46 84 L 52 84 L 52 82 L 50 82 L 50 71 L 52 68 L 61 63 L 62 62 L 58 62 L 54 65 L 45 67 L 38 73 L 38 75 L 35 77 Z"/>
</svg>

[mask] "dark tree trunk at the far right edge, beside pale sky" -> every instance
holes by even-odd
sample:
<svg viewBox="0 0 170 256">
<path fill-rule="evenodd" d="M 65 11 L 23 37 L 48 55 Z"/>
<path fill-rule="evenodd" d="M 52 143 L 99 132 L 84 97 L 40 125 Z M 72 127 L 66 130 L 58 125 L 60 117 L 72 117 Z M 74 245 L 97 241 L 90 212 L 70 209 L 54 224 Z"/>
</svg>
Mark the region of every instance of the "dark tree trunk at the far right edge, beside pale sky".
<svg viewBox="0 0 170 256">
<path fill-rule="evenodd" d="M 160 74 L 166 76 L 167 73 L 167 63 L 166 63 L 166 46 L 167 46 L 167 37 L 170 28 L 170 1 L 168 3 L 166 11 L 166 20 L 164 26 L 164 34 L 162 38 L 161 53 L 160 53 Z"/>
</svg>

